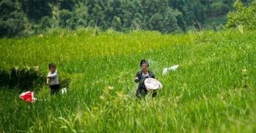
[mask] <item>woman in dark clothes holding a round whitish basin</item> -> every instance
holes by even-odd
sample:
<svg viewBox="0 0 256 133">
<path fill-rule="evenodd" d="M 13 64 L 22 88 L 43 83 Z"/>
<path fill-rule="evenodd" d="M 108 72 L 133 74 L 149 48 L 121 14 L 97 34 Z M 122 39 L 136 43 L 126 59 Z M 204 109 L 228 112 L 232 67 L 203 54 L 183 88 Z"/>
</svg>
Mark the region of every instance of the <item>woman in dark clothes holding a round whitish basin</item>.
<svg viewBox="0 0 256 133">
<path fill-rule="evenodd" d="M 139 72 L 136 73 L 134 82 L 139 82 L 139 86 L 138 89 L 136 91 L 136 97 L 140 98 L 141 96 L 144 97 L 145 95 L 147 95 L 148 91 L 145 87 L 144 81 L 147 78 L 154 78 L 155 79 L 155 75 L 153 74 L 153 72 L 150 72 L 148 70 L 148 61 L 145 59 L 142 59 L 140 61 L 140 67 L 141 70 Z M 153 91 L 152 93 L 152 97 L 156 97 L 157 92 Z"/>
</svg>

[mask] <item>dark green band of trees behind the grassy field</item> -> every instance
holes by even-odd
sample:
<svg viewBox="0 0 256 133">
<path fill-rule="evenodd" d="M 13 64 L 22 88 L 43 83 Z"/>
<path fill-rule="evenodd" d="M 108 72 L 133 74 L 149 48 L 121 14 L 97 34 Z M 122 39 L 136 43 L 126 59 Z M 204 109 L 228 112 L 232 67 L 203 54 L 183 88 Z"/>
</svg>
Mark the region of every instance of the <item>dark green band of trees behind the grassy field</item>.
<svg viewBox="0 0 256 133">
<path fill-rule="evenodd" d="M 1 0 L 0 36 L 31 35 L 52 27 L 180 33 L 218 26 L 225 19 L 214 18 L 226 16 L 233 3 L 234 0 Z M 214 22 L 205 23 L 208 19 Z"/>
</svg>

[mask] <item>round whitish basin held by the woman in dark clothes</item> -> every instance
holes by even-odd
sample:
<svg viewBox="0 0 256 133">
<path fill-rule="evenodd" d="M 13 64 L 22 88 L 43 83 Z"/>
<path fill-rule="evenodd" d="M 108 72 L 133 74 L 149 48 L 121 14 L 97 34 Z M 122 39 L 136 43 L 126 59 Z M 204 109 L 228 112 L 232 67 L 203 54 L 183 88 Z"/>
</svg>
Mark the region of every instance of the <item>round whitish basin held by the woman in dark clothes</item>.
<svg viewBox="0 0 256 133">
<path fill-rule="evenodd" d="M 144 84 L 145 84 L 147 90 L 157 90 L 157 89 L 163 88 L 163 85 L 161 84 L 161 82 L 159 82 L 153 78 L 145 79 Z"/>
</svg>

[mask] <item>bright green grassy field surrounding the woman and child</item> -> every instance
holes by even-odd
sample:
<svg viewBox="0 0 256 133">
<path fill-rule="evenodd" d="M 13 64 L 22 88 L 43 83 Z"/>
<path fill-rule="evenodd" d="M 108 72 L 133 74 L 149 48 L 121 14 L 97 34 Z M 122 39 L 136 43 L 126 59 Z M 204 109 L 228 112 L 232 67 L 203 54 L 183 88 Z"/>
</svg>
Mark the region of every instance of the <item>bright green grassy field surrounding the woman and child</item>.
<svg viewBox="0 0 256 133">
<path fill-rule="evenodd" d="M 0 90 L 0 131 L 256 132 L 255 38 L 255 31 L 93 29 L 2 38 L 1 68 L 39 66 L 46 76 L 54 62 L 72 82 L 67 95 L 56 97 L 44 86 L 34 104 Z M 143 58 L 164 88 L 156 98 L 136 100 L 133 78 Z M 176 64 L 177 71 L 161 75 Z"/>
</svg>

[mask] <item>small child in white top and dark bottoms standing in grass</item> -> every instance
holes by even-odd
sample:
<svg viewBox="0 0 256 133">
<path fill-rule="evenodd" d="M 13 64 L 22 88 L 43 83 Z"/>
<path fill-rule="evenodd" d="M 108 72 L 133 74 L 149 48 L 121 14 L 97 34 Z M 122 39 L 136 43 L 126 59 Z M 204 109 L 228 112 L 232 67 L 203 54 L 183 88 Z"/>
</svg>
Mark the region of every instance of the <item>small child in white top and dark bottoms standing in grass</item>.
<svg viewBox="0 0 256 133">
<path fill-rule="evenodd" d="M 47 84 L 50 85 L 51 95 L 56 94 L 60 90 L 60 83 L 56 65 L 54 63 L 49 64 L 50 72 L 47 75 Z"/>
</svg>

